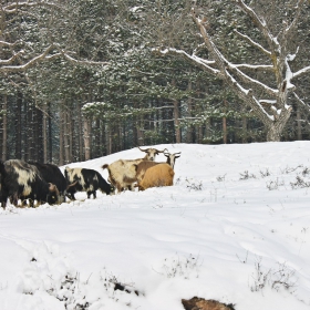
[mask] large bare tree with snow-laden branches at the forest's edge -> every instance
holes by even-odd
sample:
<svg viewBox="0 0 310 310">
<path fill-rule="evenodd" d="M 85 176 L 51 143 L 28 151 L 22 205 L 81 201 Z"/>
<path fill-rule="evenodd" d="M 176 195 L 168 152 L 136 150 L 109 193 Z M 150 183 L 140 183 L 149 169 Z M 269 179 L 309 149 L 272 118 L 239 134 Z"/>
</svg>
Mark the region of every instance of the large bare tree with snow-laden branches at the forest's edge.
<svg viewBox="0 0 310 310">
<path fill-rule="evenodd" d="M 291 63 L 298 56 L 298 48 L 293 51 L 290 49 L 290 42 L 297 33 L 298 22 L 306 7 L 306 0 L 290 1 L 294 2 L 290 7 L 291 13 L 289 17 L 283 17 L 277 34 L 273 34 L 276 28 L 270 24 L 271 19 L 267 22 L 262 14 L 259 14 L 242 0 L 231 2 L 238 6 L 251 20 L 254 27 L 259 30 L 261 40 L 252 39 L 237 29 L 235 33 L 248 46 L 250 45 L 262 53 L 260 59 L 266 60 L 268 63 L 252 64 L 229 61 L 229 55 L 224 54 L 224 49 L 220 49 L 211 35 L 207 14 L 199 13 L 195 7 L 192 8 L 192 17 L 199 29 L 203 44 L 195 49 L 192 54 L 185 50 L 174 48 L 161 48 L 159 52 L 162 54 L 175 53 L 183 55 L 215 76 L 225 80 L 230 90 L 264 123 L 267 130 L 267 141 L 280 141 L 281 132 L 292 112 L 292 106 L 288 104 L 288 96 L 294 94 L 296 99 L 306 105 L 296 93 L 297 85 L 293 84 L 293 81 L 309 73 L 310 65 L 297 69 L 293 72 Z M 279 9 L 279 7 L 275 6 L 275 9 Z M 277 11 L 273 11 L 272 14 L 276 17 Z M 208 59 L 199 56 L 202 48 L 207 49 Z M 255 74 L 257 72 L 262 74 Z M 266 75 L 268 78 L 272 76 L 272 79 L 266 79 Z M 259 80 L 258 76 L 262 76 L 262 79 Z"/>
</svg>

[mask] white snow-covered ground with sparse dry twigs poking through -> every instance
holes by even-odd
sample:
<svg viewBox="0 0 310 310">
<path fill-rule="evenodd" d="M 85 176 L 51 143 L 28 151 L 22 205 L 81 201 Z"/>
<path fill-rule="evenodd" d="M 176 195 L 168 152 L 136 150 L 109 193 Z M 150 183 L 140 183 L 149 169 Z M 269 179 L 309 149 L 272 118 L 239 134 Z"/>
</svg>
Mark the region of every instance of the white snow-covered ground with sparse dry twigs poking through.
<svg viewBox="0 0 310 310">
<path fill-rule="evenodd" d="M 310 142 L 156 147 L 182 152 L 173 187 L 0 210 L 1 310 L 310 308 Z"/>
</svg>

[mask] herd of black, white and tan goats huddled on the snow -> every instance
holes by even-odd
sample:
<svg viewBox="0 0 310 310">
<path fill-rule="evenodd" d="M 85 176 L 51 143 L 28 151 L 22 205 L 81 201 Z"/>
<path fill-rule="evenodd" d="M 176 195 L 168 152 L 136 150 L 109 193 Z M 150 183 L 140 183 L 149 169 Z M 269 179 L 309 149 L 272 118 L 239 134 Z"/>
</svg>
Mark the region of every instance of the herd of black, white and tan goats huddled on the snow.
<svg viewBox="0 0 310 310">
<path fill-rule="evenodd" d="M 180 152 L 172 154 L 167 148 L 158 151 L 153 147 L 138 149 L 146 153 L 143 158 L 118 159 L 102 166 L 102 169 L 108 172 L 108 183 L 94 169 L 65 167 L 63 175 L 53 164 L 20 159 L 0 162 L 1 206 L 6 209 L 8 199 L 16 207 L 19 200 L 22 206 L 29 203 L 30 207 L 34 207 L 34 200 L 38 205 L 61 204 L 65 197 L 75 200 L 76 192 L 86 192 L 87 198 L 91 195 L 96 198 L 97 189 L 111 195 L 126 189 L 134 190 L 135 187 L 145 190 L 149 187 L 172 186 L 175 161 Z M 159 153 L 167 157 L 166 162 L 155 162 Z"/>
</svg>

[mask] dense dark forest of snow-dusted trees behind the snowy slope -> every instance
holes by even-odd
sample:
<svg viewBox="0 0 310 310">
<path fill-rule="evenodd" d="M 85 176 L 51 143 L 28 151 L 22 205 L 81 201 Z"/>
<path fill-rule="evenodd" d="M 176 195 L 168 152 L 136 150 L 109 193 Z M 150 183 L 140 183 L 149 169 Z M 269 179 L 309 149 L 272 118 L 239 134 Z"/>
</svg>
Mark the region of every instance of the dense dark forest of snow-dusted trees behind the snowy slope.
<svg viewBox="0 0 310 310">
<path fill-rule="evenodd" d="M 306 0 L 1 1 L 0 153 L 310 138 Z"/>
</svg>

